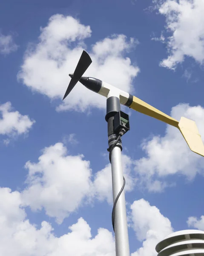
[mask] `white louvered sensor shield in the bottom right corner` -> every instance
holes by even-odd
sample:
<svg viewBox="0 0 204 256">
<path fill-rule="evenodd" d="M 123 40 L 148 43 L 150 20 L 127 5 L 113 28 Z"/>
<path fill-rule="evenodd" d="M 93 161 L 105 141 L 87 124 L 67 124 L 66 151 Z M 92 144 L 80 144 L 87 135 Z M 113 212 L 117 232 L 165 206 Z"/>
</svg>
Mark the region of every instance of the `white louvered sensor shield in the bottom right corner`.
<svg viewBox="0 0 204 256">
<path fill-rule="evenodd" d="M 204 256 L 204 231 L 172 233 L 157 244 L 156 251 L 158 256 Z"/>
</svg>

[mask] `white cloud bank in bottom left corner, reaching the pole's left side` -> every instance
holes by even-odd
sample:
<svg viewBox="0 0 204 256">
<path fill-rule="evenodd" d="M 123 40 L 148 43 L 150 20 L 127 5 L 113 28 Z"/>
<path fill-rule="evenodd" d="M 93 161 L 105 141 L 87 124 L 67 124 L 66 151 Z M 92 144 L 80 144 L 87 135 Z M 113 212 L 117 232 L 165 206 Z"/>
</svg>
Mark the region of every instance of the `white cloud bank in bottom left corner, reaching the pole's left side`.
<svg viewBox="0 0 204 256">
<path fill-rule="evenodd" d="M 70 232 L 56 237 L 46 221 L 38 229 L 26 218 L 20 193 L 0 188 L 0 255 L 6 256 L 114 256 L 112 233 L 99 228 L 92 238 L 83 218 L 69 227 Z"/>
</svg>

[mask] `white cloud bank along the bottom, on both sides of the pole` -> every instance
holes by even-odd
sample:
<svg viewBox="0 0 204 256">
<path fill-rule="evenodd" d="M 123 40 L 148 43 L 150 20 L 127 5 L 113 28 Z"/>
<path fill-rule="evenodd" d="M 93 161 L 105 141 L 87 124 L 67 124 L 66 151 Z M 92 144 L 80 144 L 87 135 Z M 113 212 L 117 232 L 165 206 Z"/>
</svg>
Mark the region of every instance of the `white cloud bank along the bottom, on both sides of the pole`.
<svg viewBox="0 0 204 256">
<path fill-rule="evenodd" d="M 47 221 L 41 226 L 31 224 L 26 216 L 20 192 L 0 188 L 0 248 L 8 256 L 114 256 L 112 233 L 99 228 L 92 237 L 91 228 L 83 218 L 69 227 L 69 232 L 57 237 Z M 144 199 L 131 205 L 132 227 L 143 247 L 132 256 L 156 256 L 155 245 L 172 233 L 171 223 L 155 206 Z M 12 246 L 10 246 L 12 244 Z"/>
</svg>

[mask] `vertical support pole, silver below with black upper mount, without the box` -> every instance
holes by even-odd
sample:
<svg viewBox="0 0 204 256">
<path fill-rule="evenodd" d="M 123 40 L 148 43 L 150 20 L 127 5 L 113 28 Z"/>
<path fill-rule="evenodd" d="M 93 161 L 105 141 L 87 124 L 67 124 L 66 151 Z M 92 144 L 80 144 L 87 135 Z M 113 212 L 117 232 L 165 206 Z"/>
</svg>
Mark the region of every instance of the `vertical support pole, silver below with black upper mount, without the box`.
<svg viewBox="0 0 204 256">
<path fill-rule="evenodd" d="M 109 147 L 113 145 L 118 137 L 114 131 L 114 116 L 115 113 L 120 111 L 120 100 L 116 96 L 107 98 L 107 113 L 106 121 L 108 122 L 108 140 Z M 112 169 L 112 191 L 113 191 L 113 202 L 120 192 L 124 180 L 123 180 L 123 169 L 121 161 L 121 150 L 122 143 L 121 139 L 115 145 L 111 152 L 111 169 Z M 125 204 L 125 193 L 124 190 L 118 198 L 115 207 L 115 250 L 116 256 L 129 256 L 129 239 L 127 230 L 127 218 L 126 218 L 126 204 Z"/>
</svg>

